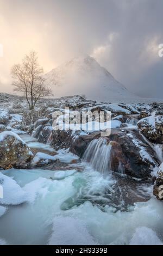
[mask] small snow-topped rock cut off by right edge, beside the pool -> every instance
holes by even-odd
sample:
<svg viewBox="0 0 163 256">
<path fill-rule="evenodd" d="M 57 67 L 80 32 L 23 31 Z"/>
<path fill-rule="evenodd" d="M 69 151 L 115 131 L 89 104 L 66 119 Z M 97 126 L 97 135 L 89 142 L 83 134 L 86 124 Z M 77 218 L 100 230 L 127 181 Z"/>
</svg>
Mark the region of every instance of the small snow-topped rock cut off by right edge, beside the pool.
<svg viewBox="0 0 163 256">
<path fill-rule="evenodd" d="M 153 194 L 157 199 L 163 200 L 163 163 L 161 163 L 156 181 L 153 187 Z"/>
</svg>

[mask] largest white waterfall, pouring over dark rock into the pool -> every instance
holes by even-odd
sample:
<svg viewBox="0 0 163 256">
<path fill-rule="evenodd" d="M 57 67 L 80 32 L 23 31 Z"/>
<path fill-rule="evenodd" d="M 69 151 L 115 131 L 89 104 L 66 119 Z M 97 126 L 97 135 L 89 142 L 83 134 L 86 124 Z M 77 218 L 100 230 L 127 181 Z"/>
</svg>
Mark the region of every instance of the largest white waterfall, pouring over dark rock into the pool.
<svg viewBox="0 0 163 256">
<path fill-rule="evenodd" d="M 111 144 L 105 138 L 93 139 L 84 153 L 83 161 L 89 162 L 98 172 L 106 174 L 111 169 Z"/>
</svg>

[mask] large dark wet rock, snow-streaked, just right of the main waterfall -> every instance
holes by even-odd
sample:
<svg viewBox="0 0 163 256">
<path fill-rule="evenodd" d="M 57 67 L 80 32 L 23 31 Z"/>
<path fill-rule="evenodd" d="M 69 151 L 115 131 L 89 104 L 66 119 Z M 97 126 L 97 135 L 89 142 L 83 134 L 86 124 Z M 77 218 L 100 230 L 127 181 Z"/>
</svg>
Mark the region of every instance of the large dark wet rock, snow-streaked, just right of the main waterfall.
<svg viewBox="0 0 163 256">
<path fill-rule="evenodd" d="M 108 138 L 112 144 L 111 170 L 135 176 L 151 178 L 158 168 L 155 151 L 137 130 L 113 132 Z"/>
</svg>

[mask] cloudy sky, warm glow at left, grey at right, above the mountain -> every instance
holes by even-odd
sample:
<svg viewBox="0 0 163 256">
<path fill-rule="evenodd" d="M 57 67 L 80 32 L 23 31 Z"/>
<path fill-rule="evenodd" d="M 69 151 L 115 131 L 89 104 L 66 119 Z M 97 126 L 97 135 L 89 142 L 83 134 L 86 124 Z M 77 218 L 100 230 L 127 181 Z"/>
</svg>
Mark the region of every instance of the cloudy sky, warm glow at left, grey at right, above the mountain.
<svg viewBox="0 0 163 256">
<path fill-rule="evenodd" d="M 162 13 L 162 0 L 0 0 L 0 90 L 34 49 L 45 72 L 89 54 L 131 92 L 163 98 Z"/>
</svg>

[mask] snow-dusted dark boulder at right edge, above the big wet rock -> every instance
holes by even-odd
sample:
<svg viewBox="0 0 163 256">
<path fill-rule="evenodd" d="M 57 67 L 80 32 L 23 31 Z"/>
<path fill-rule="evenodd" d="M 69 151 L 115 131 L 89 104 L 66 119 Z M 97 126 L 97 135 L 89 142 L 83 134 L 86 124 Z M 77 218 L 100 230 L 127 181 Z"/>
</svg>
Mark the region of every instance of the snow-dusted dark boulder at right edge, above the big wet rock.
<svg viewBox="0 0 163 256">
<path fill-rule="evenodd" d="M 163 143 L 163 115 L 153 113 L 150 117 L 141 119 L 137 126 L 141 133 L 154 143 Z"/>
</svg>

